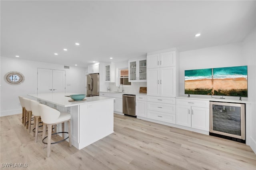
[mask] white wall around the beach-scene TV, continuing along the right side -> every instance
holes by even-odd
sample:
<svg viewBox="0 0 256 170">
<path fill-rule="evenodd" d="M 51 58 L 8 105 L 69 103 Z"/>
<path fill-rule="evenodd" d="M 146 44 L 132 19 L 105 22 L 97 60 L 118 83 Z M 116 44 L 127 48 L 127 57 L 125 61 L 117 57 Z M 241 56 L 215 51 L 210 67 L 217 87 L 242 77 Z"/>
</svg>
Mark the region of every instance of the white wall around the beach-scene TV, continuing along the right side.
<svg viewBox="0 0 256 170">
<path fill-rule="evenodd" d="M 248 98 L 246 104 L 246 144 L 256 152 L 256 35 L 255 29 L 241 43 L 180 52 L 180 90 L 184 95 L 184 71 L 215 67 L 248 65 Z M 232 98 L 232 97 L 225 97 Z M 237 97 L 236 97 L 237 98 Z"/>
</svg>

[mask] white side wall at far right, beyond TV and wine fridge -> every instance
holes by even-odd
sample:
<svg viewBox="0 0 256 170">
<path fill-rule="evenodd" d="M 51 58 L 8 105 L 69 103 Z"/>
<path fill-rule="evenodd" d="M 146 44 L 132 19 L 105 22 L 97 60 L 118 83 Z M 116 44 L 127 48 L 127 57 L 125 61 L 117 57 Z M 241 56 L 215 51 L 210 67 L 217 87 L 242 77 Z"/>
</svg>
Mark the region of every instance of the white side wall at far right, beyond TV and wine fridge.
<svg viewBox="0 0 256 170">
<path fill-rule="evenodd" d="M 243 41 L 242 56 L 248 65 L 248 100 L 252 103 L 252 114 L 248 118 L 252 130 L 249 145 L 256 153 L 256 28 Z"/>
</svg>

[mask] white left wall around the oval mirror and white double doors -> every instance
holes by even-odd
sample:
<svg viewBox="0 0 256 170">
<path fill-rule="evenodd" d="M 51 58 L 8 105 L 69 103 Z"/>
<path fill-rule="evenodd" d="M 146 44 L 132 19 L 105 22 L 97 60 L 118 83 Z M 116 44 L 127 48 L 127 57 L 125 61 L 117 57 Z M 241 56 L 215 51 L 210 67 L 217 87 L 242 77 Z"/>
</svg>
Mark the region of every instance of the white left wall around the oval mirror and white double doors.
<svg viewBox="0 0 256 170">
<path fill-rule="evenodd" d="M 28 97 L 27 94 L 37 93 L 37 68 L 65 70 L 66 92 L 85 93 L 85 68 L 64 69 L 64 65 L 1 57 L 1 116 L 22 113 L 18 96 Z M 20 85 L 7 84 L 3 78 L 10 71 L 22 73 L 25 81 Z"/>
</svg>

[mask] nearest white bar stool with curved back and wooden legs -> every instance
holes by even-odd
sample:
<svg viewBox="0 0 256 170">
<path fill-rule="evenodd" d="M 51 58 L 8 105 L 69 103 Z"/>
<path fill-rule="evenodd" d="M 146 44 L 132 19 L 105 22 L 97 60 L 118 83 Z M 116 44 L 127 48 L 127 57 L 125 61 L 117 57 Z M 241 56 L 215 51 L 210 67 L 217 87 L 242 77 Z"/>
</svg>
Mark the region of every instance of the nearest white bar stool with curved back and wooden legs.
<svg viewBox="0 0 256 170">
<path fill-rule="evenodd" d="M 62 142 L 68 138 L 69 147 L 71 147 L 71 125 L 70 125 L 71 115 L 67 112 L 59 112 L 56 109 L 53 109 L 46 105 L 42 105 L 40 103 L 38 104 L 38 108 L 39 108 L 39 113 L 41 115 L 41 119 L 43 122 L 43 135 L 42 135 L 43 149 L 44 149 L 44 144 L 47 144 L 47 157 L 50 156 L 51 144 Z M 62 133 L 62 136 L 64 136 L 64 133 L 68 133 L 68 137 L 58 142 L 51 143 L 52 130 L 50 129 L 52 129 L 52 125 L 62 123 L 62 129 L 64 129 L 64 122 L 68 122 L 68 132 L 57 132 L 57 133 Z M 48 135 L 45 137 L 46 126 L 48 128 Z M 54 133 L 54 134 L 57 134 L 57 133 Z M 44 142 L 45 138 L 48 138 L 47 143 Z"/>
</svg>

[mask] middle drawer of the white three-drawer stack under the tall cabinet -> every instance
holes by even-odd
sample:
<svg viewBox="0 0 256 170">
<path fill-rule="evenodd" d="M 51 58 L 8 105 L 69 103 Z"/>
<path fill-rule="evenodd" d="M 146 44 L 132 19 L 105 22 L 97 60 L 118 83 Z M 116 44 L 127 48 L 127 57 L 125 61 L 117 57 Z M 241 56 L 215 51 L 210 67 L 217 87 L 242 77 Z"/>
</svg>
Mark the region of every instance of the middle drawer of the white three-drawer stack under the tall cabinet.
<svg viewBox="0 0 256 170">
<path fill-rule="evenodd" d="M 172 104 L 165 104 L 165 103 L 155 103 L 155 102 L 148 102 L 148 110 L 151 111 L 158 111 L 158 112 L 165 112 L 165 113 L 176 113 L 176 105 Z"/>
</svg>

